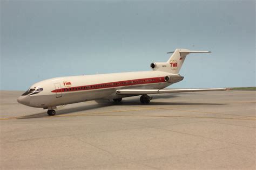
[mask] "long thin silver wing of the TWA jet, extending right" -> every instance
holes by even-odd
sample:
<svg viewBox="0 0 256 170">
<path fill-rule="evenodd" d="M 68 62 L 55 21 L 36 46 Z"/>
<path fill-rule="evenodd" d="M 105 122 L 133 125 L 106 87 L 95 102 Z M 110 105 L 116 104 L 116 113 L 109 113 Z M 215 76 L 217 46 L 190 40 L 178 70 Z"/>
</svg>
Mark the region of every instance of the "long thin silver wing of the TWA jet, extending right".
<svg viewBox="0 0 256 170">
<path fill-rule="evenodd" d="M 181 92 L 196 92 L 196 91 L 224 91 L 226 88 L 214 89 L 120 89 L 116 91 L 118 95 L 149 95 L 162 93 L 181 93 Z"/>
</svg>

